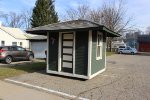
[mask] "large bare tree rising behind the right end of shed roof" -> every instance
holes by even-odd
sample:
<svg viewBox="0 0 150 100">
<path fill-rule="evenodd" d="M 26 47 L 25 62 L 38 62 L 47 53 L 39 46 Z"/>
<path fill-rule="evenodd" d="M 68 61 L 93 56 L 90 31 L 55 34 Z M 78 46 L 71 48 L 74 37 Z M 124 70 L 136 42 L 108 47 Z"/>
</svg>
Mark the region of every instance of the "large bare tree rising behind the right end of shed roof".
<svg viewBox="0 0 150 100">
<path fill-rule="evenodd" d="M 104 3 L 101 8 L 101 14 L 103 16 L 101 17 L 101 24 L 120 34 L 126 30 L 131 21 L 131 18 L 125 20 L 126 11 L 123 0 L 119 0 L 118 5 L 116 5 L 115 1 Z M 113 38 L 107 38 L 107 48 L 109 48 L 109 51 L 111 51 L 112 41 Z"/>
</svg>

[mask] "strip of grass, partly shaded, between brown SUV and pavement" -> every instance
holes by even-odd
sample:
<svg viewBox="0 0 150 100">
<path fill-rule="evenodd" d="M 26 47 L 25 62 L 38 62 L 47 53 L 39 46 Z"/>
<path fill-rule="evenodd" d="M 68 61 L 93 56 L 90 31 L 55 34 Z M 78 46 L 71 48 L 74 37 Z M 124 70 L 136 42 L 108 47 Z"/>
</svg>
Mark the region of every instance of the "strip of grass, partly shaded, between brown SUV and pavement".
<svg viewBox="0 0 150 100">
<path fill-rule="evenodd" d="M 16 66 L 0 66 L 0 79 L 17 76 L 25 73 L 32 73 L 46 69 L 45 62 L 32 62 Z"/>
</svg>

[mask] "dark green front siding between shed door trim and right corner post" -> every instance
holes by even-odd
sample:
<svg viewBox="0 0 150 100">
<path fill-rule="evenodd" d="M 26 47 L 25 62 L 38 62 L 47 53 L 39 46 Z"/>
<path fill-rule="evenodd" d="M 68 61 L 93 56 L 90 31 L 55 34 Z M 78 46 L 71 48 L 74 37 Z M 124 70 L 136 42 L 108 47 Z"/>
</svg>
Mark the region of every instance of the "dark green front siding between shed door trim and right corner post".
<svg viewBox="0 0 150 100">
<path fill-rule="evenodd" d="M 76 32 L 75 50 L 75 74 L 87 75 L 88 31 Z"/>
</svg>

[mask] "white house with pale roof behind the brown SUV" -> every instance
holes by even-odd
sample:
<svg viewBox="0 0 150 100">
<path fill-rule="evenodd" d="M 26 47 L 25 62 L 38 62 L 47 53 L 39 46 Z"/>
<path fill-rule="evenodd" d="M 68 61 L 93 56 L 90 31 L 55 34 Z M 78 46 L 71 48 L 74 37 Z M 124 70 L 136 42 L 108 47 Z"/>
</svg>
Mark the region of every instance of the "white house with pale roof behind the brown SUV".
<svg viewBox="0 0 150 100">
<path fill-rule="evenodd" d="M 5 27 L 0 24 L 0 46 L 22 46 L 29 49 L 26 33 L 19 28 Z"/>
</svg>

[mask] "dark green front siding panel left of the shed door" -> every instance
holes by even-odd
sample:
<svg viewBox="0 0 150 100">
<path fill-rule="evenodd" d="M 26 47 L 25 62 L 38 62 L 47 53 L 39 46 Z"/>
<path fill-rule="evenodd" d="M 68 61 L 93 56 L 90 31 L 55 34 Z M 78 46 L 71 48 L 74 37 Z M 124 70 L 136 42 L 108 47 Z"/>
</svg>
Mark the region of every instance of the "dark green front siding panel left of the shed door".
<svg viewBox="0 0 150 100">
<path fill-rule="evenodd" d="M 49 70 L 58 71 L 59 33 L 49 33 Z"/>
</svg>

